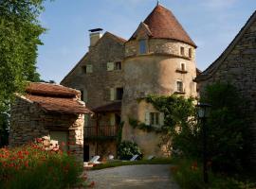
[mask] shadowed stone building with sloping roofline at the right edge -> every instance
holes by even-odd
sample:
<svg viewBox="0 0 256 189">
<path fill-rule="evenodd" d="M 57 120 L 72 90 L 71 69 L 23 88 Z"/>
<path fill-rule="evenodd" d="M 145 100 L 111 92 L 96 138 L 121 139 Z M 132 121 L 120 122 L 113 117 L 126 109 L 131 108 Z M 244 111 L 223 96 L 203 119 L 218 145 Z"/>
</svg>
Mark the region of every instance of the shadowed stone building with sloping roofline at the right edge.
<svg viewBox="0 0 256 189">
<path fill-rule="evenodd" d="M 210 83 L 229 82 L 249 101 L 249 127 L 254 136 L 251 161 L 256 164 L 256 11 L 220 57 L 195 80 L 200 92 Z"/>
</svg>

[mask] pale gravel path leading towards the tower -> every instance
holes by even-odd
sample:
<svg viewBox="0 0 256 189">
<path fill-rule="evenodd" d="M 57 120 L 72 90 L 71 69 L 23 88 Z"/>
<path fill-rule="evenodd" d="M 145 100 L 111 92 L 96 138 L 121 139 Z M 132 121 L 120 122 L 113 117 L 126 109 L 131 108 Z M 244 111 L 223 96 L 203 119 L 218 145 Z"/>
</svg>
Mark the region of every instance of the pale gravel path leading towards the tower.
<svg viewBox="0 0 256 189">
<path fill-rule="evenodd" d="M 171 177 L 170 164 L 126 165 L 87 174 L 98 189 L 178 189 Z"/>
</svg>

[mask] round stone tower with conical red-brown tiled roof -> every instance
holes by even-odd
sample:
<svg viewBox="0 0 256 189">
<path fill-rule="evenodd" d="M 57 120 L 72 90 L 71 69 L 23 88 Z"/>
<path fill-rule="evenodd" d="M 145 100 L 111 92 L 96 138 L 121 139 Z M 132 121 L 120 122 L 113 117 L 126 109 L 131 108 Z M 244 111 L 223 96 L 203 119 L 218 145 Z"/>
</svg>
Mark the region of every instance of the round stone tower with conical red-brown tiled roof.
<svg viewBox="0 0 256 189">
<path fill-rule="evenodd" d="M 122 138 L 136 142 L 145 155 L 162 156 L 165 146 L 157 146 L 158 134 L 133 129 L 129 118 L 159 127 L 163 115 L 151 104 L 137 99 L 148 94 L 196 96 L 195 48 L 174 14 L 161 5 L 155 7 L 125 43 Z"/>
</svg>

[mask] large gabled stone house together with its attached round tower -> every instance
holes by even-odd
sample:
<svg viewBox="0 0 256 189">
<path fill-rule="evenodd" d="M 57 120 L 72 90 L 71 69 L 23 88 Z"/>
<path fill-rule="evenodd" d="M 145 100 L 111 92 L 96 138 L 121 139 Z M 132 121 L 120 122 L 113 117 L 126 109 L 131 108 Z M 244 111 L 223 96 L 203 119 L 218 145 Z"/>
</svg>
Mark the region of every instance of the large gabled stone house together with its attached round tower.
<svg viewBox="0 0 256 189">
<path fill-rule="evenodd" d="M 86 106 L 96 113 L 86 118 L 85 159 L 95 154 L 116 155 L 120 121 L 124 123 L 122 140 L 136 142 L 145 155 L 165 155 L 164 146 L 157 146 L 160 136 L 132 129 L 129 118 L 160 127 L 163 114 L 144 101 L 138 103 L 137 98 L 147 94 L 196 96 L 195 43 L 174 14 L 161 5 L 128 41 L 109 32 L 101 37 L 101 29 L 90 31 L 88 53 L 61 82 L 81 90 Z"/>
</svg>

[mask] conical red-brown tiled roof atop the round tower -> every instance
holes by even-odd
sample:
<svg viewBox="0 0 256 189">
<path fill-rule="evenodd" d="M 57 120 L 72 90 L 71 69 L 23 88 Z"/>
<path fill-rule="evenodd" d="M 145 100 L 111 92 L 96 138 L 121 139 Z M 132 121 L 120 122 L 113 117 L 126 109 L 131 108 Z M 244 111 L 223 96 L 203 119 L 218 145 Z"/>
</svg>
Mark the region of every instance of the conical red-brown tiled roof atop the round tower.
<svg viewBox="0 0 256 189">
<path fill-rule="evenodd" d="M 161 5 L 157 5 L 143 23 L 149 27 L 152 33 L 151 38 L 173 39 L 196 47 L 196 44 L 192 42 L 189 34 L 179 24 L 172 11 Z"/>
</svg>

